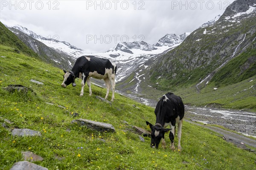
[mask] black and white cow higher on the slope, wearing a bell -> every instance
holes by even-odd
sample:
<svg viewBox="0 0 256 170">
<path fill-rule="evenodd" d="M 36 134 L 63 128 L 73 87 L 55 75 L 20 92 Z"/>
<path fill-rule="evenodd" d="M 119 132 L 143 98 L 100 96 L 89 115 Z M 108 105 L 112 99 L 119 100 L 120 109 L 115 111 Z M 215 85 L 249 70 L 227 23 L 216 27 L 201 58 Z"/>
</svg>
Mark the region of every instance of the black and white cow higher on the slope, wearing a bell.
<svg viewBox="0 0 256 170">
<path fill-rule="evenodd" d="M 112 88 L 111 102 L 113 102 L 115 96 L 116 69 L 116 65 L 112 64 L 108 59 L 102 59 L 94 56 L 81 56 L 76 59 L 76 63 L 71 71 L 63 70 L 65 74 L 61 86 L 65 88 L 67 85 L 70 85 L 70 83 L 72 83 L 73 86 L 76 86 L 75 79 L 79 77 L 82 79 L 80 96 L 84 95 L 85 82 L 87 82 L 89 87 L 89 95 L 92 95 L 90 77 L 104 79 L 107 87 L 105 99 L 108 98 L 110 88 Z"/>
</svg>

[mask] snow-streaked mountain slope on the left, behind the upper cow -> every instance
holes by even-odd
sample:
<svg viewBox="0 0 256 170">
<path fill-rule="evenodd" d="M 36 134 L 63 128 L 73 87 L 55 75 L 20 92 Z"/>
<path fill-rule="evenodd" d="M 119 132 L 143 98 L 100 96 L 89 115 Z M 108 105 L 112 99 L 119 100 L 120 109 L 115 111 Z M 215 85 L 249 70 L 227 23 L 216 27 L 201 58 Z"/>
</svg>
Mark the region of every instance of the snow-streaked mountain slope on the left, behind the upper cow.
<svg viewBox="0 0 256 170">
<path fill-rule="evenodd" d="M 23 26 L 9 26 L 7 28 L 37 53 L 42 60 L 52 63 L 59 68 L 72 68 L 73 63 L 76 61 L 75 57 L 79 57 L 76 55 L 81 53 L 81 51 L 78 52 L 78 48 L 70 45 L 68 42 L 44 38 Z"/>
</svg>

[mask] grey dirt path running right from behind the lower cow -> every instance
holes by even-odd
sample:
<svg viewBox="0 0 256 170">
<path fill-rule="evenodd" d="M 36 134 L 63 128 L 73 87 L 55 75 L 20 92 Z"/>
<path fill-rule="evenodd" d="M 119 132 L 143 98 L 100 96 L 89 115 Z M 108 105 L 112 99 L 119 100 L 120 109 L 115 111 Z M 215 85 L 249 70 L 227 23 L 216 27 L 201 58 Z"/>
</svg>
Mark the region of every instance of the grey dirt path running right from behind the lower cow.
<svg viewBox="0 0 256 170">
<path fill-rule="evenodd" d="M 249 146 L 252 146 L 252 147 L 256 147 L 256 140 L 254 139 L 251 139 L 251 138 L 248 138 L 246 136 L 243 136 L 243 135 L 239 135 L 237 133 L 233 133 L 233 132 L 230 132 L 230 131 L 227 131 L 227 130 L 224 130 L 224 129 L 221 129 L 219 127 L 214 127 L 214 126 L 209 126 L 209 125 L 201 125 L 201 124 L 198 124 L 198 123 L 195 123 L 195 122 L 192 122 L 192 121 L 189 121 L 189 120 L 186 120 L 186 122 L 189 122 L 189 123 L 192 123 L 194 125 L 198 125 L 198 126 L 201 126 L 201 127 L 205 127 L 207 129 L 210 129 L 210 130 L 213 130 L 217 133 L 220 133 L 221 135 L 223 135 L 226 139 L 230 140 L 230 142 L 239 142 L 241 144 L 247 144 Z"/>
</svg>

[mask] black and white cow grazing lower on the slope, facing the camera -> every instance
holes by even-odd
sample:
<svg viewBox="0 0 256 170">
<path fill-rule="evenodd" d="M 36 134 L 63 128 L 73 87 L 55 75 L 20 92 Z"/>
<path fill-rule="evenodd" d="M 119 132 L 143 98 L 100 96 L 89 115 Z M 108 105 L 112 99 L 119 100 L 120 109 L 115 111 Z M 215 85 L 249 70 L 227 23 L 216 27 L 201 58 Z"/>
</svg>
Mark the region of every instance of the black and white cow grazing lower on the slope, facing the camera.
<svg viewBox="0 0 256 170">
<path fill-rule="evenodd" d="M 160 140 L 162 139 L 162 145 L 165 148 L 166 142 L 164 140 L 164 134 L 171 130 L 169 138 L 172 142 L 171 149 L 175 150 L 174 136 L 175 136 L 175 124 L 178 124 L 178 150 L 181 150 L 180 138 L 181 127 L 184 117 L 184 105 L 180 96 L 176 96 L 173 93 L 167 93 L 161 97 L 154 111 L 156 115 L 156 123 L 152 125 L 146 122 L 151 128 L 151 147 L 158 148 Z M 166 127 L 170 125 L 170 129 Z"/>
</svg>

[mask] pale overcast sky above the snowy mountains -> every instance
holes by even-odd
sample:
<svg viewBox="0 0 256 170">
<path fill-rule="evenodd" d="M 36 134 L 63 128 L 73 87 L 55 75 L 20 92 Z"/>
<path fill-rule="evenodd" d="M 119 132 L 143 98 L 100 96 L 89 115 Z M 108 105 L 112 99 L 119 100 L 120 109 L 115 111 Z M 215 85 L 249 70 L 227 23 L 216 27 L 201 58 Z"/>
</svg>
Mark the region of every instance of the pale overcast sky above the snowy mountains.
<svg viewBox="0 0 256 170">
<path fill-rule="evenodd" d="M 212 20 L 234 0 L 0 0 L 0 21 L 87 52 L 105 52 L 118 42 L 156 43 Z"/>
</svg>

